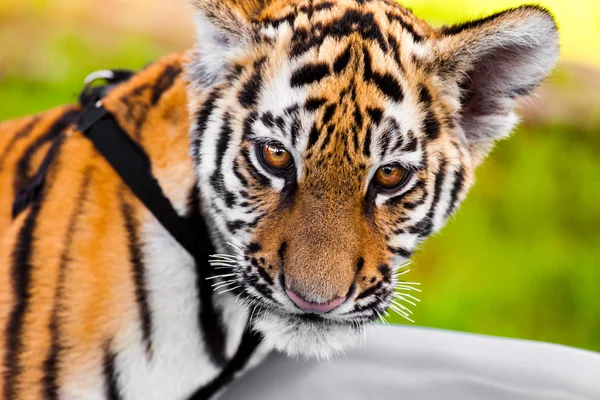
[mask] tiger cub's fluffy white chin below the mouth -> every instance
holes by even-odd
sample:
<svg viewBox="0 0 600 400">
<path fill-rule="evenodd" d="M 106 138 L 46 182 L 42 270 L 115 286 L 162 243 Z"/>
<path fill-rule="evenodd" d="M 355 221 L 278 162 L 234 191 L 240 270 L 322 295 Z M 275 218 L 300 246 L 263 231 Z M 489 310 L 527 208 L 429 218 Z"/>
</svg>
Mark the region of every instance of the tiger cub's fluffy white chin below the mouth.
<svg viewBox="0 0 600 400">
<path fill-rule="evenodd" d="M 265 311 L 254 319 L 267 344 L 288 356 L 329 360 L 356 346 L 364 326 L 317 316 L 283 315 Z"/>
</svg>

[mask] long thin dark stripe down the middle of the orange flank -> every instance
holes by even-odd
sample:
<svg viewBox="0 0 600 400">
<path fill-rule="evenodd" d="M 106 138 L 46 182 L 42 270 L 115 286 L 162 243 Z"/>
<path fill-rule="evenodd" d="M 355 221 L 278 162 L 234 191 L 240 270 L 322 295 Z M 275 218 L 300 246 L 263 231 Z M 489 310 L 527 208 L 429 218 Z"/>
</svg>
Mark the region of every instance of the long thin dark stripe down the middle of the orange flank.
<svg viewBox="0 0 600 400">
<path fill-rule="evenodd" d="M 56 291 L 54 292 L 54 307 L 52 308 L 52 315 L 50 316 L 50 324 L 48 326 L 50 331 L 50 350 L 48 352 L 48 356 L 44 360 L 44 376 L 42 377 L 44 398 L 47 400 L 58 399 L 59 385 L 57 380 L 60 374 L 58 360 L 60 359 L 60 353 L 63 350 L 60 338 L 60 316 L 63 315 L 64 309 L 61 305 L 61 299 L 63 298 L 63 292 L 65 290 L 64 281 L 66 269 L 70 261 L 70 250 L 73 237 L 76 232 L 77 219 L 83 211 L 83 206 L 87 198 L 92 175 L 91 172 L 91 169 L 87 169 L 84 173 L 83 183 L 75 203 L 75 211 L 73 211 L 71 217 L 69 218 L 69 224 L 67 226 L 67 232 L 63 243 L 63 251 L 60 256 L 60 264 L 58 266 Z"/>
</svg>

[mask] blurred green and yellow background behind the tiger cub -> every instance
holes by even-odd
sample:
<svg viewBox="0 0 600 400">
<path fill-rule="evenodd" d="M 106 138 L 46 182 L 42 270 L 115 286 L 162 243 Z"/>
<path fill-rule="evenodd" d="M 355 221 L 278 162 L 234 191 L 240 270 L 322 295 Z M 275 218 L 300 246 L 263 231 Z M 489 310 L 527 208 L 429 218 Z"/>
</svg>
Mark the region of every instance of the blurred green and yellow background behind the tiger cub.
<svg viewBox="0 0 600 400">
<path fill-rule="evenodd" d="M 406 0 L 434 24 L 519 2 Z M 417 255 L 417 324 L 600 351 L 600 2 L 541 2 L 562 61 L 458 216 Z M 2 0 L 0 120 L 73 102 L 83 78 L 193 43 L 173 0 Z M 401 322 L 392 318 L 392 322 Z"/>
</svg>

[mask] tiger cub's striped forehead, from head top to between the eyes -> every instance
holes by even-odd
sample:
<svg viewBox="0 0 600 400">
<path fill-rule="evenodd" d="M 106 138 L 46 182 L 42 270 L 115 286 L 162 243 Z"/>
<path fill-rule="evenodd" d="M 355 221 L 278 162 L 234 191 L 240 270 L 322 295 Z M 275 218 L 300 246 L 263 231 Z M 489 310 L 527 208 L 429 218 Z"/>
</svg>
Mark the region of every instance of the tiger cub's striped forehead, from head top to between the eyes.
<svg viewBox="0 0 600 400">
<path fill-rule="evenodd" d="M 362 191 L 374 166 L 425 164 L 419 90 L 428 78 L 414 53 L 426 24 L 377 0 L 274 2 L 255 24 L 251 131 L 286 145 L 305 182 Z"/>
</svg>

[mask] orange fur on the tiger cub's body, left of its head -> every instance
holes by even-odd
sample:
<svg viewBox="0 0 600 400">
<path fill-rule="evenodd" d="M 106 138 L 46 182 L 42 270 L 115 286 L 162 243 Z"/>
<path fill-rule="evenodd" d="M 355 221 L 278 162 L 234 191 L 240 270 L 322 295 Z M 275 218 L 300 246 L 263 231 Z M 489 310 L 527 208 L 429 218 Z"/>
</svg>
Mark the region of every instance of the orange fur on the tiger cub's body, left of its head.
<svg viewBox="0 0 600 400">
<path fill-rule="evenodd" d="M 176 80 L 151 104 L 152 87 L 136 90 L 154 82 L 165 68 L 181 71 L 184 56 L 166 57 L 151 65 L 131 81 L 118 87 L 104 104 L 132 138 L 147 150 L 153 160 L 153 173 L 175 205 L 183 206 L 195 182 L 188 154 L 188 117 L 185 82 Z M 132 96 L 133 93 L 133 96 Z M 134 102 L 133 114 L 126 103 Z M 27 212 L 12 221 L 10 210 L 14 200 L 13 176 L 22 154 L 48 128 L 73 107 L 62 107 L 40 116 L 31 132 L 15 142 L 0 170 L 0 325 L 6 326 L 11 311 L 10 277 L 14 243 Z M 18 133 L 33 119 L 23 119 L 0 126 L 0 154 L 8 146 L 11 133 Z M 160 132 L 159 135 L 156 132 Z M 122 329 L 135 323 L 135 293 L 130 271 L 129 249 L 119 200 L 124 199 L 140 223 L 149 212 L 127 189 L 110 165 L 96 154 L 91 142 L 72 128 L 48 173 L 48 183 L 35 229 L 35 251 L 31 259 L 31 293 L 24 316 L 23 346 L 19 364 L 17 393 L 20 399 L 38 399 L 44 361 L 50 347 L 49 325 L 52 310 L 60 308 L 61 345 L 64 351 L 58 368 L 59 376 L 84 377 L 101 368 L 102 351 Z M 32 155 L 27 176 L 31 177 L 49 148 L 40 146 Z M 172 180 L 176 177 L 175 180 Z M 84 188 L 85 181 L 87 188 Z M 81 197 L 84 196 L 83 202 Z M 74 215 L 78 202 L 80 213 Z M 138 225 L 139 226 L 139 225 Z M 72 231 L 69 232 L 69 229 Z M 67 238 L 70 238 L 68 244 Z M 68 261 L 68 262 L 67 262 Z M 62 288 L 59 275 L 63 270 Z M 57 296 L 57 290 L 61 290 Z M 4 340 L 4 330 L 0 331 Z M 4 357 L 4 345 L 0 346 Z M 60 382 L 59 382 L 60 383 Z M 0 386 L 3 380 L 0 379 Z M 85 385 L 85 382 L 81 383 Z"/>
</svg>

